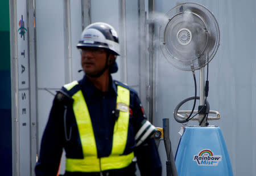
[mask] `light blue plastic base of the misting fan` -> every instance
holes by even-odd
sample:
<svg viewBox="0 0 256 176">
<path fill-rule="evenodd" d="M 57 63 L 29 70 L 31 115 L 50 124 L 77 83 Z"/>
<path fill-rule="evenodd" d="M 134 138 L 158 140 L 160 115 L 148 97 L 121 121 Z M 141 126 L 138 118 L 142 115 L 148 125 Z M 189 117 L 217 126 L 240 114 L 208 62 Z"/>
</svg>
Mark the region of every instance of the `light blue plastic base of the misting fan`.
<svg viewBox="0 0 256 176">
<path fill-rule="evenodd" d="M 175 163 L 179 176 L 233 176 L 220 127 L 185 127 Z"/>
</svg>

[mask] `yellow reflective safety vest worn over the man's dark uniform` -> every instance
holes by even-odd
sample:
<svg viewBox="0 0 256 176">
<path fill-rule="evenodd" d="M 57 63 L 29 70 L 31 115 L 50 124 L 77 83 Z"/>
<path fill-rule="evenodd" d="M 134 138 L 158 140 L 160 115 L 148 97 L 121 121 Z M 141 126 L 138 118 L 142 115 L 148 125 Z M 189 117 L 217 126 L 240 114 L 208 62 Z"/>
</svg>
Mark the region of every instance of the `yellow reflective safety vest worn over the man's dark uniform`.
<svg viewBox="0 0 256 176">
<path fill-rule="evenodd" d="M 77 81 L 64 85 L 69 91 L 78 84 Z M 117 86 L 117 106 L 119 117 L 114 125 L 113 147 L 110 156 L 97 158 L 97 147 L 94 137 L 92 122 L 88 107 L 82 95 L 82 91 L 77 91 L 72 98 L 73 111 L 75 114 L 77 127 L 79 129 L 80 140 L 82 144 L 83 159 L 67 158 L 66 170 L 77 172 L 100 172 L 110 169 L 121 169 L 129 166 L 134 158 L 134 153 L 123 154 L 127 142 L 128 126 L 129 126 L 129 103 L 130 91 L 120 85 Z M 127 106 L 127 110 L 126 110 Z"/>
</svg>

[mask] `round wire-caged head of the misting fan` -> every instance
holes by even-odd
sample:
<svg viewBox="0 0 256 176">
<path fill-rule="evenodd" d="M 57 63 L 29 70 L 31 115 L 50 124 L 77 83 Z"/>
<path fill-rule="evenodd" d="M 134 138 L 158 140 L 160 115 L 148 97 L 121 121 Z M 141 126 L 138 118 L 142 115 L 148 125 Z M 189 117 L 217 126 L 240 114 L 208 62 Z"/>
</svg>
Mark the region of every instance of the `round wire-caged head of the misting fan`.
<svg viewBox="0 0 256 176">
<path fill-rule="evenodd" d="M 209 63 L 220 45 L 220 30 L 212 12 L 197 3 L 170 10 L 160 25 L 159 42 L 164 57 L 180 70 L 198 70 Z"/>
</svg>

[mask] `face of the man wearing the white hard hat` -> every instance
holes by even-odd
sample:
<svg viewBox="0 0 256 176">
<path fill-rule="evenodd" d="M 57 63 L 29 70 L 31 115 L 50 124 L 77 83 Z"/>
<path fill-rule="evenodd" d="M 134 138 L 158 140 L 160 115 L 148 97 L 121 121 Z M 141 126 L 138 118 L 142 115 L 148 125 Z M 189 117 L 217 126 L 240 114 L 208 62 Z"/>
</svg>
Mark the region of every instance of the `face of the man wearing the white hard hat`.
<svg viewBox="0 0 256 176">
<path fill-rule="evenodd" d="M 88 76 L 97 75 L 106 65 L 107 52 L 104 48 L 87 47 L 81 49 L 81 66 Z"/>
</svg>

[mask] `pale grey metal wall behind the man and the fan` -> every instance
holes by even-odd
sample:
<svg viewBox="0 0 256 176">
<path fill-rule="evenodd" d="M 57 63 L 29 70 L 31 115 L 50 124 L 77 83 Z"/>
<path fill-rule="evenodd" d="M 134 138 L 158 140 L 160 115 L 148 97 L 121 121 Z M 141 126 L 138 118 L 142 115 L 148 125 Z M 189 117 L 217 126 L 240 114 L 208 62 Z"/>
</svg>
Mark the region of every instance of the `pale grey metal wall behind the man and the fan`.
<svg viewBox="0 0 256 176">
<path fill-rule="evenodd" d="M 19 59 L 19 63 L 17 61 L 11 63 L 12 69 L 17 69 L 12 71 L 15 74 L 12 76 L 15 79 L 12 80 L 12 93 L 18 93 L 18 102 L 13 101 L 12 107 L 15 107 L 14 102 L 19 105 L 19 111 L 15 111 L 15 117 L 13 118 L 18 117 L 19 120 L 24 116 L 24 122 L 13 121 L 13 130 L 14 128 L 17 130 L 15 131 L 16 134 L 13 132 L 13 135 L 17 135 L 13 144 L 19 145 L 13 149 L 15 157 L 16 152 L 19 155 L 19 152 L 26 148 L 26 152 L 20 153 L 17 158 L 14 157 L 15 161 L 20 161 L 16 161 L 17 164 L 13 164 L 13 168 L 20 170 L 13 170 L 13 173 L 29 175 L 30 166 L 31 170 L 34 169 L 35 154 L 33 154 L 33 150 L 37 148 L 39 153 L 43 130 L 56 91 L 65 83 L 79 80 L 84 75 L 82 72 L 78 72 L 81 66 L 80 54 L 76 49 L 76 44 L 79 41 L 82 29 L 93 22 L 109 23 L 118 31 L 121 55 L 117 58 L 119 71 L 113 74 L 113 77 L 138 91 L 139 96 L 142 97 L 143 106 L 146 107 L 147 115 L 150 115 L 148 114 L 150 108 L 154 110 L 155 126 L 162 127 L 162 119 L 170 118 L 170 136 L 175 154 L 180 139 L 177 132 L 181 124 L 174 120 L 172 113 L 181 100 L 193 96 L 195 88 L 191 72 L 178 70 L 164 59 L 162 51 L 159 49 L 158 32 L 163 16 L 171 8 L 185 1 L 23 0 L 16 3 L 16 1 L 10 0 L 10 2 L 12 2 L 10 9 L 14 8 L 10 15 L 13 16 L 11 21 L 14 21 L 12 24 L 15 23 L 11 27 L 16 27 L 14 28 L 14 30 L 17 29 L 16 32 L 13 31 L 16 34 L 18 33 L 18 22 L 20 20 L 26 21 L 27 12 L 31 8 L 34 12 L 35 7 L 35 41 L 31 40 L 34 31 L 27 27 L 27 24 L 30 24 L 31 27 L 34 24 L 33 21 L 24 22 L 25 28 L 27 27 L 28 30 L 26 35 L 30 33 L 29 42 L 27 38 L 26 41 L 21 39 L 18 41 L 11 40 L 13 42 L 11 46 L 15 48 L 11 48 L 11 50 L 15 50 L 13 52 L 14 57 Z M 34 7 L 30 5 L 31 2 L 35 3 Z M 138 8 L 139 2 L 143 2 L 144 7 L 148 7 L 146 8 L 147 14 L 149 13 L 148 9 L 154 10 L 152 16 L 155 24 L 154 35 L 146 32 L 148 27 L 146 23 L 145 28 L 141 27 L 143 20 L 140 16 L 141 9 Z M 256 27 L 256 2 L 253 0 L 248 0 L 246 3 L 238 0 L 192 2 L 200 3 L 212 11 L 220 27 L 220 48 L 209 64 L 208 101 L 211 110 L 220 112 L 221 119 L 210 122 L 210 125 L 221 127 L 234 175 L 256 175 L 256 153 L 254 150 L 256 148 L 256 130 L 254 128 L 256 120 L 253 118 L 254 106 L 256 105 L 256 93 L 254 93 L 256 88 L 256 74 L 254 71 L 256 66 L 256 34 L 254 32 Z M 154 7 L 152 8 L 152 6 Z M 88 14 L 85 12 L 88 12 Z M 30 13 L 28 13 L 28 20 L 31 20 Z M 146 20 L 146 22 L 152 21 Z M 140 35 L 142 33 L 147 37 L 151 35 L 154 37 L 152 39 L 154 50 L 148 51 L 150 46 L 147 45 L 146 41 L 144 45 L 141 45 L 143 38 L 140 38 Z M 15 37 L 13 36 L 13 38 Z M 33 43 L 35 51 L 31 47 Z M 26 48 L 27 45 L 28 49 Z M 144 55 L 142 49 L 144 49 Z M 152 51 L 154 51 L 154 57 L 149 55 L 148 59 L 155 59 L 154 62 L 150 60 L 142 61 L 144 59 L 142 57 L 147 58 L 147 54 Z M 30 52 L 29 55 L 28 52 Z M 33 52 L 35 62 L 34 58 L 31 57 Z M 11 51 L 11 54 L 13 53 Z M 152 63 L 154 63 L 154 67 L 151 67 Z M 25 70 L 24 66 L 27 66 Z M 5 68 L 2 70 L 5 70 Z M 35 78 L 32 78 L 33 76 Z M 197 83 L 199 83 L 198 71 L 196 76 Z M 23 78 L 26 80 L 22 80 Z M 154 86 L 150 85 L 149 81 L 153 78 Z M 36 81 L 35 85 L 34 81 Z M 27 83 L 26 87 L 22 87 L 24 86 L 22 83 Z M 28 83 L 30 84 L 28 85 Z M 32 92 L 33 90 L 35 93 Z M 152 90 L 153 93 L 150 94 L 149 92 Z M 22 101 L 24 100 L 24 93 L 26 93 L 26 101 Z M 15 100 L 15 97 L 12 100 Z M 148 105 L 150 100 L 154 100 L 154 102 L 151 102 L 152 106 Z M 34 101 L 36 103 L 33 103 Z M 24 109 L 24 107 L 22 108 L 23 105 L 26 106 L 29 113 L 24 114 L 24 111 L 22 111 Z M 184 106 L 184 109 L 190 110 L 191 107 L 192 104 L 189 103 Z M 34 109 L 36 109 L 36 115 Z M 36 146 L 32 140 L 35 116 L 37 119 Z M 197 123 L 189 122 L 189 125 L 197 125 Z M 245 151 L 250 154 L 244 154 Z M 159 152 L 163 165 L 163 175 L 166 175 L 165 163 L 167 159 L 163 143 L 159 145 Z M 29 156 L 26 158 L 26 161 L 28 161 L 22 162 L 25 156 Z M 31 164 L 28 164 L 29 160 Z M 64 172 L 64 159 L 62 162 L 61 173 Z M 33 174 L 32 171 L 30 174 Z"/>
</svg>

